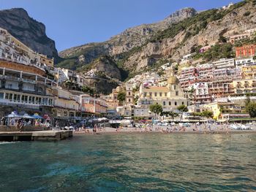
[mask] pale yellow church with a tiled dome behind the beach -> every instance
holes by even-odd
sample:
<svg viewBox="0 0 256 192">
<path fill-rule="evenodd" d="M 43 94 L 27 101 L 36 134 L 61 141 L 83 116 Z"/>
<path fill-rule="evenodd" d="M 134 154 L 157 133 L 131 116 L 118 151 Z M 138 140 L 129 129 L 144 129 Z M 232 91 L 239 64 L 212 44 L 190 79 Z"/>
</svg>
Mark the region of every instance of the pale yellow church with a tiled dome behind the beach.
<svg viewBox="0 0 256 192">
<path fill-rule="evenodd" d="M 170 77 L 166 87 L 144 87 L 140 85 L 139 105 L 161 104 L 165 111 L 176 109 L 181 104 L 187 105 L 187 99 L 181 90 L 178 79 Z"/>
</svg>

